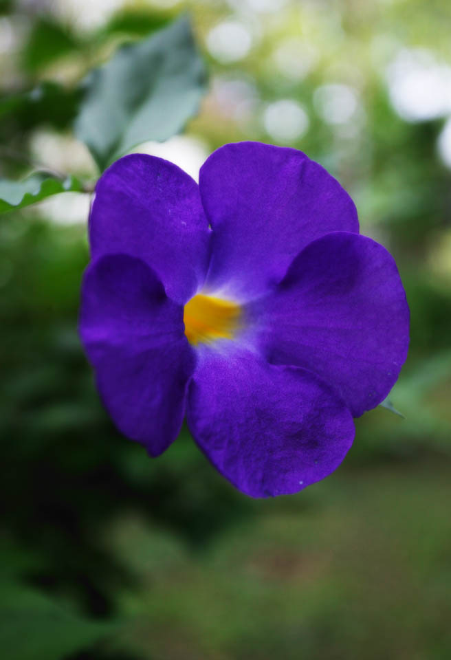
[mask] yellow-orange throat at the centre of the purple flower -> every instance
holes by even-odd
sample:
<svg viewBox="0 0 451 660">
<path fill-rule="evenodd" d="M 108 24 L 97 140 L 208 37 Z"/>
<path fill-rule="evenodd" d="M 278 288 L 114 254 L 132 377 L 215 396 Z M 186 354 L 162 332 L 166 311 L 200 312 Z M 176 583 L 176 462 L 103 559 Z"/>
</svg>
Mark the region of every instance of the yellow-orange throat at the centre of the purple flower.
<svg viewBox="0 0 451 660">
<path fill-rule="evenodd" d="M 232 339 L 239 329 L 241 308 L 231 300 L 198 294 L 184 308 L 185 334 L 190 344 Z"/>
</svg>

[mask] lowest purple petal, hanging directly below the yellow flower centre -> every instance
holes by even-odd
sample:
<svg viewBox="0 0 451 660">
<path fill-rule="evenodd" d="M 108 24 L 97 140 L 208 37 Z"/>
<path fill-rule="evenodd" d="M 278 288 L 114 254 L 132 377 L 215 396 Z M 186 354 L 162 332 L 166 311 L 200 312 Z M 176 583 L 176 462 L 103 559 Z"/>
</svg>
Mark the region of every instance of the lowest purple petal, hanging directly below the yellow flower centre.
<svg viewBox="0 0 451 660">
<path fill-rule="evenodd" d="M 188 426 L 242 492 L 298 492 L 341 463 L 354 437 L 344 403 L 314 374 L 272 366 L 224 342 L 203 347 L 188 395 Z"/>
</svg>

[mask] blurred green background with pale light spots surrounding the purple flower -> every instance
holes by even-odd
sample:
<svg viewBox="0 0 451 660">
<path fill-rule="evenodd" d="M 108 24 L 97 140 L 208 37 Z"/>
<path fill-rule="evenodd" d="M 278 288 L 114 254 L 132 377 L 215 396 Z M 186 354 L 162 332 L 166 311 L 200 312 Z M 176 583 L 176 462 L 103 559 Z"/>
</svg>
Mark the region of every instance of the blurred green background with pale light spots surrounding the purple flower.
<svg viewBox="0 0 451 660">
<path fill-rule="evenodd" d="M 113 428 L 77 336 L 89 193 L 0 216 L 8 660 L 451 657 L 451 4 L 443 0 L 0 2 L 0 175 L 94 182 L 75 85 L 120 43 L 190 12 L 208 94 L 146 151 L 197 177 L 221 144 L 306 151 L 392 252 L 408 360 L 326 481 L 251 500 L 186 430 L 157 460 Z M 3 106 L 5 107 L 5 104 Z"/>
</svg>

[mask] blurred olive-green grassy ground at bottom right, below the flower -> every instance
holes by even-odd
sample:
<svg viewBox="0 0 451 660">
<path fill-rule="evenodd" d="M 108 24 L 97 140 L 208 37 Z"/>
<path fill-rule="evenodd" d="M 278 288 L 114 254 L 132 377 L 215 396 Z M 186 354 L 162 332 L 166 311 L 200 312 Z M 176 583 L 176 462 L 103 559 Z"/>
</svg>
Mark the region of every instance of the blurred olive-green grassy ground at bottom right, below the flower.
<svg viewBox="0 0 451 660">
<path fill-rule="evenodd" d="M 307 505 L 268 503 L 200 558 L 120 520 L 114 551 L 142 580 L 121 595 L 137 617 L 127 645 L 167 659 L 444 659 L 448 476 L 438 461 L 333 476 Z"/>
</svg>

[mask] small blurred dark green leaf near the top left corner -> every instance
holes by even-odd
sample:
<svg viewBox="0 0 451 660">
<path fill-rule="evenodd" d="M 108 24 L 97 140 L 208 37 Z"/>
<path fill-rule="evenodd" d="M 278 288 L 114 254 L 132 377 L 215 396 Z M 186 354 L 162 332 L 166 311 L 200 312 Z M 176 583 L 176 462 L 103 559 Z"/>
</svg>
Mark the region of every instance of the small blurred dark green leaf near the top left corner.
<svg viewBox="0 0 451 660">
<path fill-rule="evenodd" d="M 23 68 L 34 73 L 79 47 L 78 41 L 67 28 L 51 17 L 42 17 L 34 23 L 26 41 L 22 53 Z"/>
</svg>

